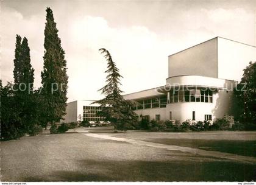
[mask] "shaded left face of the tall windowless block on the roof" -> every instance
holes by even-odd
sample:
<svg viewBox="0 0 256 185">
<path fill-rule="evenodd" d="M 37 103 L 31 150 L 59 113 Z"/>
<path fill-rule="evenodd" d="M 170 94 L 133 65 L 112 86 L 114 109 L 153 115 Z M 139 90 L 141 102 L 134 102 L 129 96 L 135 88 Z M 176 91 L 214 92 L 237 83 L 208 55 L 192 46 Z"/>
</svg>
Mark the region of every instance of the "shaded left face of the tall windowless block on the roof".
<svg viewBox="0 0 256 185">
<path fill-rule="evenodd" d="M 168 77 L 202 75 L 218 78 L 217 38 L 168 57 Z"/>
</svg>

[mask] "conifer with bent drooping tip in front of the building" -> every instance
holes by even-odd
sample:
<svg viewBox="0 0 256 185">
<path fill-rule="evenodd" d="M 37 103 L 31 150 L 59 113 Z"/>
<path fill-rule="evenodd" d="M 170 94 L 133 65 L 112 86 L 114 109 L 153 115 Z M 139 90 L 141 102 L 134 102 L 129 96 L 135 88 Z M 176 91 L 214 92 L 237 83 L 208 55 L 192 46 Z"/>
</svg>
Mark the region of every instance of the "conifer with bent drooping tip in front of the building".
<svg viewBox="0 0 256 185">
<path fill-rule="evenodd" d="M 99 89 L 105 98 L 93 103 L 99 103 L 102 111 L 99 111 L 99 116 L 105 117 L 105 120 L 112 122 L 115 129 L 126 130 L 133 127 L 137 122 L 137 114 L 132 111 L 133 103 L 129 100 L 124 100 L 121 96 L 121 89 L 119 88 L 120 78 L 119 69 L 116 68 L 115 62 L 112 60 L 110 53 L 102 48 L 99 49 L 107 60 L 107 77 L 106 85 Z"/>
</svg>

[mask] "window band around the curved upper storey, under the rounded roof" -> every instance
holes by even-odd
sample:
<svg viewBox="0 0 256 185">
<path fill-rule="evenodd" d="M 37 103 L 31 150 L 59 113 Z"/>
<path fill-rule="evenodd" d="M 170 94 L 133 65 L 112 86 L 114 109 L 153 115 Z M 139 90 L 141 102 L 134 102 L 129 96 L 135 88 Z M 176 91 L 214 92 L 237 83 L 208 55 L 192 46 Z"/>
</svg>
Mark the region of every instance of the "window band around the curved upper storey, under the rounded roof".
<svg viewBox="0 0 256 185">
<path fill-rule="evenodd" d="M 209 89 L 191 89 L 187 91 L 171 91 L 170 103 L 176 102 L 213 102 L 213 94 Z"/>
</svg>

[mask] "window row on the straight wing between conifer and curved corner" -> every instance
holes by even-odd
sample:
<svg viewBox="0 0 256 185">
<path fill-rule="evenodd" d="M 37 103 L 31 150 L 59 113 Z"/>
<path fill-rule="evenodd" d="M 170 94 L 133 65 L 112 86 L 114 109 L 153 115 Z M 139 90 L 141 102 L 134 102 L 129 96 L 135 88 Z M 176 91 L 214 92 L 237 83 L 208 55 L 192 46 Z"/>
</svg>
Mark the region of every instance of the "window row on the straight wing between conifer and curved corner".
<svg viewBox="0 0 256 185">
<path fill-rule="evenodd" d="M 166 107 L 167 97 L 158 96 L 151 99 L 137 100 L 138 105 L 133 107 L 133 110 L 140 110 L 146 108 L 163 108 Z"/>
</svg>

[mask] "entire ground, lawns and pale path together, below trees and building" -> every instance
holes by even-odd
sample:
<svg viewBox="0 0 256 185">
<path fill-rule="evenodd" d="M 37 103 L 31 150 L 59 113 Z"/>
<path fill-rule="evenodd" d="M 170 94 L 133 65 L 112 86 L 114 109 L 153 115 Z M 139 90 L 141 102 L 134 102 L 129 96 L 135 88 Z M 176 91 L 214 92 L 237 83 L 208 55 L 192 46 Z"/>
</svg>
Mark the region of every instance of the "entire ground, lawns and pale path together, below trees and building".
<svg viewBox="0 0 256 185">
<path fill-rule="evenodd" d="M 255 181 L 255 141 L 255 132 L 77 128 L 1 142 L 1 181 Z"/>
</svg>

